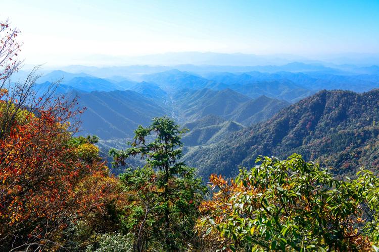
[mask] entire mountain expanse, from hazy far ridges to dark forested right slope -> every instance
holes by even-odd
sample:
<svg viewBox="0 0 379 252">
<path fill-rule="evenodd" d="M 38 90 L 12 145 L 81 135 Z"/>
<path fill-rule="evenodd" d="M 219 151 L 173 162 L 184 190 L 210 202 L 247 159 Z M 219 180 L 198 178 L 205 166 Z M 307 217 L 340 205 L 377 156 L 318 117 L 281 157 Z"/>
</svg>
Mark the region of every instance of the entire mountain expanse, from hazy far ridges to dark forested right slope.
<svg viewBox="0 0 379 252">
<path fill-rule="evenodd" d="M 78 73 L 44 75 L 34 88 L 78 96 L 86 107 L 79 134 L 98 135 L 104 155 L 110 147 L 125 148 L 138 125 L 169 115 L 190 130 L 182 139 L 183 160 L 203 177 L 233 176 L 258 155 L 294 152 L 334 167 L 338 176 L 359 166 L 379 170 L 379 67 L 292 62 L 225 69 L 78 67 Z"/>
</svg>

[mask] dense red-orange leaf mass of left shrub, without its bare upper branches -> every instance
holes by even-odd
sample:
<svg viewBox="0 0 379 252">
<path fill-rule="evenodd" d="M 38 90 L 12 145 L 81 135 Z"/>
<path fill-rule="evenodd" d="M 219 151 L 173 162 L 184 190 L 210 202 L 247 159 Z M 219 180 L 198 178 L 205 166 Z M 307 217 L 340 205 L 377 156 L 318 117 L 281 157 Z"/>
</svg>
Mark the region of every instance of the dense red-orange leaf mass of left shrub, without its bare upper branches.
<svg viewBox="0 0 379 252">
<path fill-rule="evenodd" d="M 104 163 L 81 160 L 69 138 L 48 109 L 0 139 L 0 243 L 43 244 L 113 197 Z"/>
</svg>

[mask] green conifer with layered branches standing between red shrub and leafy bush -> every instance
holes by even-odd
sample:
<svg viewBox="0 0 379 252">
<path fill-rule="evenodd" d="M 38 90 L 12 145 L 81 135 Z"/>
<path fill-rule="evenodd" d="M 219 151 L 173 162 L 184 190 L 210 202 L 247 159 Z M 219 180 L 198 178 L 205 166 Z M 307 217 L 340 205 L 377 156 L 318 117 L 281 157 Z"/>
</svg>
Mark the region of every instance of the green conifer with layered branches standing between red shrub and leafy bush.
<svg viewBox="0 0 379 252">
<path fill-rule="evenodd" d="M 180 161 L 180 139 L 186 131 L 167 116 L 154 118 L 149 127 L 138 127 L 130 148 L 110 151 L 116 166 L 130 156 L 146 159 L 143 168 L 121 175 L 126 190 L 134 194 L 133 220 L 128 223 L 135 231 L 138 251 L 144 242 L 163 242 L 164 250 L 178 250 L 194 236 L 198 202 L 206 189 L 195 169 Z M 148 142 L 151 136 L 155 139 Z"/>
</svg>

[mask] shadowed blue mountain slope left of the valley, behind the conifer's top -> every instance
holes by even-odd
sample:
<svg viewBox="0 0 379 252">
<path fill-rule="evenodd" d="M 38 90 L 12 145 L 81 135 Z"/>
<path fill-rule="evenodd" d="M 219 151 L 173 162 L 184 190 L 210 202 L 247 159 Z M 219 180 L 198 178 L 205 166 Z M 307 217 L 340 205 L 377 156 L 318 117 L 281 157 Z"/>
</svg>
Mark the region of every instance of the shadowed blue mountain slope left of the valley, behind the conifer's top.
<svg viewBox="0 0 379 252">
<path fill-rule="evenodd" d="M 78 94 L 79 105 L 86 107 L 81 115 L 81 134 L 101 139 L 127 138 L 153 117 L 168 114 L 167 110 L 134 91 L 91 92 Z"/>
</svg>

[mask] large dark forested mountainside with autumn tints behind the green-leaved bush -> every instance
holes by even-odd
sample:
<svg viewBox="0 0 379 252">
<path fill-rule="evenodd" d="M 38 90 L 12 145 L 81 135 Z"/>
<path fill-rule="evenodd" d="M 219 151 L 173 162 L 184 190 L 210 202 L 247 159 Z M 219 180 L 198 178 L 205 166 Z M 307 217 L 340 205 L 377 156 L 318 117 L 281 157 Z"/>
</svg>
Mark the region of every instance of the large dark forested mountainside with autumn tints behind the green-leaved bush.
<svg viewBox="0 0 379 252">
<path fill-rule="evenodd" d="M 217 144 L 189 148 L 184 161 L 211 173 L 233 176 L 251 167 L 258 155 L 299 153 L 331 168 L 354 174 L 379 168 L 379 90 L 358 94 L 321 91 L 275 114 L 268 121 L 234 132 Z"/>
</svg>

